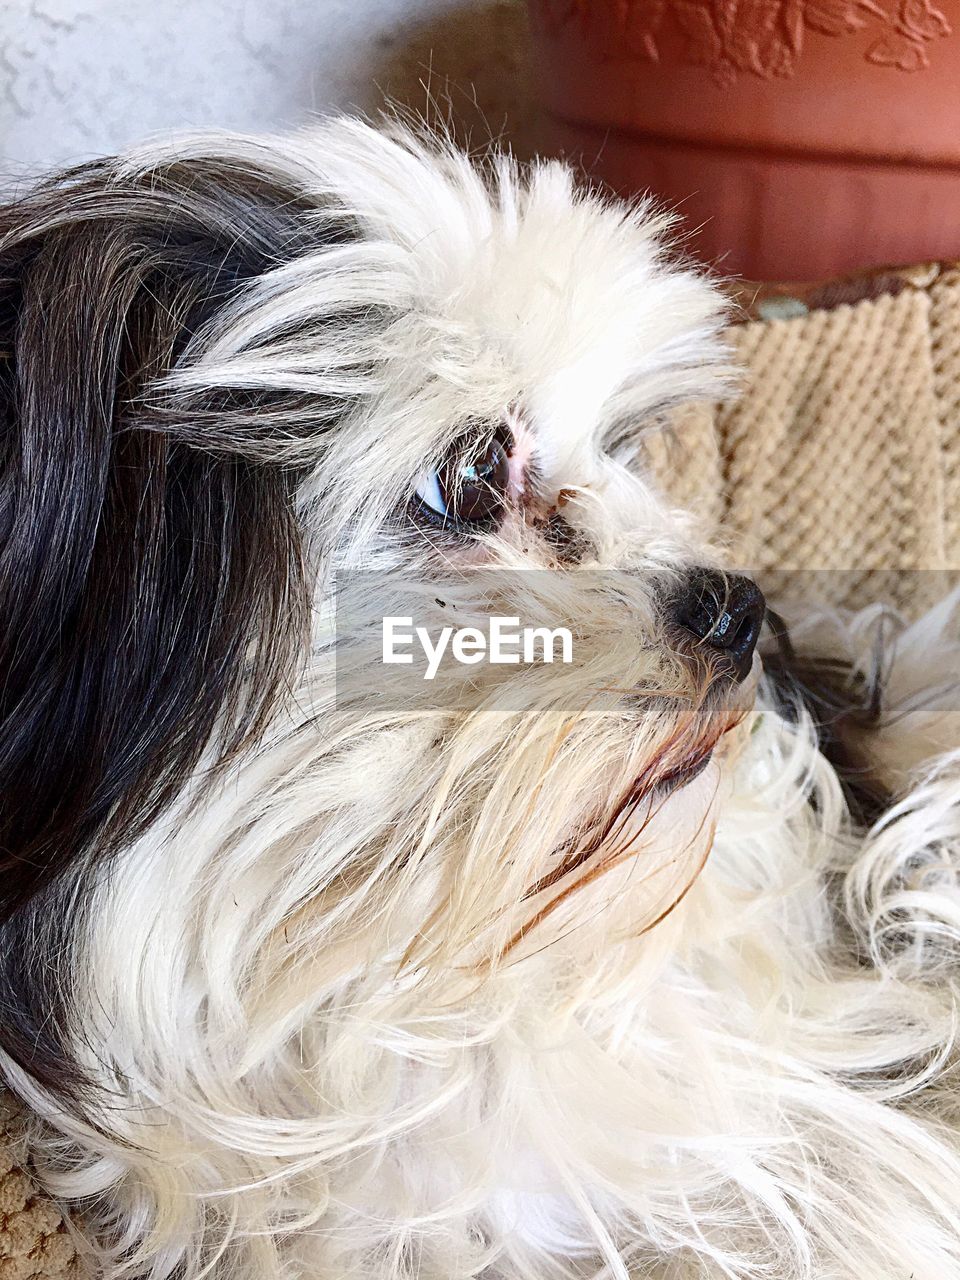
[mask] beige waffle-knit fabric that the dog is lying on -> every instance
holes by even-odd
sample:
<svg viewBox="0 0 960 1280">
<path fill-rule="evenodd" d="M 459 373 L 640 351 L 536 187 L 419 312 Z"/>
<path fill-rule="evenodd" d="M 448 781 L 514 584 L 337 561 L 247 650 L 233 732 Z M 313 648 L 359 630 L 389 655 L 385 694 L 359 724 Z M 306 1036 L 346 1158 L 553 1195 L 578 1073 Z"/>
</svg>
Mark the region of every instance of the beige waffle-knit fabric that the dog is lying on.
<svg viewBox="0 0 960 1280">
<path fill-rule="evenodd" d="M 748 293 L 745 314 L 742 397 L 649 438 L 660 483 L 768 591 L 932 603 L 960 576 L 960 269 Z M 0 1097 L 0 1280 L 78 1280 L 22 1146 Z"/>
</svg>

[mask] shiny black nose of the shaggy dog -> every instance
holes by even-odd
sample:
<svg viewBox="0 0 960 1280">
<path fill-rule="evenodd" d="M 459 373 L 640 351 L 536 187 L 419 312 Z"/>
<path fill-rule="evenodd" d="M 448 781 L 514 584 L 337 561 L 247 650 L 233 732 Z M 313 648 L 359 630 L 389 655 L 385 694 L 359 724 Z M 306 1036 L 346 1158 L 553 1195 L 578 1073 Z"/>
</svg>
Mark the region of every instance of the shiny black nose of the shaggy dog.
<svg viewBox="0 0 960 1280">
<path fill-rule="evenodd" d="M 763 593 L 749 577 L 695 570 L 675 605 L 677 622 L 721 654 L 736 680 L 746 680 L 765 612 Z"/>
</svg>

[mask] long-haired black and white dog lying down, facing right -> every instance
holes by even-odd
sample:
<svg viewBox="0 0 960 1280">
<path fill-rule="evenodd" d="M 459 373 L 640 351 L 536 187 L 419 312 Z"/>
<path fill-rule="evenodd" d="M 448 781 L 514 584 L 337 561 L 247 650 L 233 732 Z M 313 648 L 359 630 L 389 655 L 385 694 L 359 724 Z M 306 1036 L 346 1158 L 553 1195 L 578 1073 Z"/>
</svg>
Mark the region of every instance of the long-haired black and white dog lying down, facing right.
<svg viewBox="0 0 960 1280">
<path fill-rule="evenodd" d="M 671 225 L 356 119 L 3 206 L 0 1061 L 93 1274 L 960 1277 L 957 600 L 783 628 L 657 493 Z"/>
</svg>

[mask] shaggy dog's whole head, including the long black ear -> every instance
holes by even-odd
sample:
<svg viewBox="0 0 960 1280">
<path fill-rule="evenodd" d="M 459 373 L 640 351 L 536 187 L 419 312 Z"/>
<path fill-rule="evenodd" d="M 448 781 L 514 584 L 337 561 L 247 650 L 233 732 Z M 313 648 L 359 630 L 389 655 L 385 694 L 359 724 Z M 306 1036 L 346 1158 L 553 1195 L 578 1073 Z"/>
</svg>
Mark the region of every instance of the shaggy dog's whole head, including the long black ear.
<svg viewBox="0 0 960 1280">
<path fill-rule="evenodd" d="M 224 1082 L 294 1089 L 293 1039 L 347 1097 L 351 1001 L 417 1057 L 525 963 L 603 998 L 709 852 L 762 617 L 639 462 L 724 376 L 663 220 L 352 123 L 5 218 L 6 1051 L 163 1096 L 187 1167 L 243 1146 Z M 412 584 L 428 628 L 564 623 L 576 660 L 384 700 L 342 622 L 370 571 L 374 613 Z M 27 936 L 70 982 L 15 972 Z"/>
</svg>

